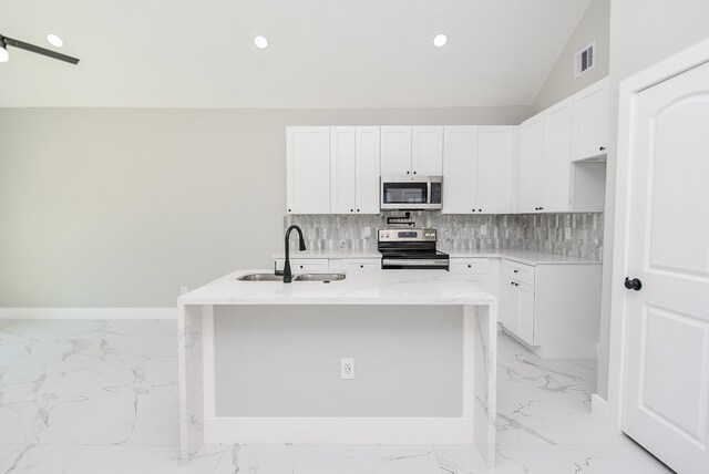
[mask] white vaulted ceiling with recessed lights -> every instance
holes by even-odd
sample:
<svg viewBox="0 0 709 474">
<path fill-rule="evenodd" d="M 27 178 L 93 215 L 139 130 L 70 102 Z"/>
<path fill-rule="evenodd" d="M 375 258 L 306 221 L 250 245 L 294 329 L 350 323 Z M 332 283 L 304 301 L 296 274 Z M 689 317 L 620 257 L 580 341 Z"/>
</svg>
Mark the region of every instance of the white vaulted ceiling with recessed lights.
<svg viewBox="0 0 709 474">
<path fill-rule="evenodd" d="M 10 48 L 0 106 L 526 105 L 589 2 L 1 0 L 0 34 L 81 62 Z"/>
</svg>

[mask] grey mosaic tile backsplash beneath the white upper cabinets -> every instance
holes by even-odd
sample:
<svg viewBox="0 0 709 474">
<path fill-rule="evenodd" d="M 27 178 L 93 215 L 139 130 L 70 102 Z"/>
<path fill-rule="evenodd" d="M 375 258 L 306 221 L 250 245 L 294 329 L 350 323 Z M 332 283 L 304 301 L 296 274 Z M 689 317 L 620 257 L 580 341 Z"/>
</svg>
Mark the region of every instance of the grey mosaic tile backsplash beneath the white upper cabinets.
<svg viewBox="0 0 709 474">
<path fill-rule="evenodd" d="M 377 250 L 377 229 L 387 225 L 380 215 L 286 215 L 285 227 L 302 228 L 306 245 L 318 250 Z M 459 215 L 412 212 L 415 227 L 439 231 L 439 248 L 453 250 L 523 248 L 592 260 L 603 256 L 603 213 Z M 291 239 L 291 246 L 297 239 Z"/>
</svg>

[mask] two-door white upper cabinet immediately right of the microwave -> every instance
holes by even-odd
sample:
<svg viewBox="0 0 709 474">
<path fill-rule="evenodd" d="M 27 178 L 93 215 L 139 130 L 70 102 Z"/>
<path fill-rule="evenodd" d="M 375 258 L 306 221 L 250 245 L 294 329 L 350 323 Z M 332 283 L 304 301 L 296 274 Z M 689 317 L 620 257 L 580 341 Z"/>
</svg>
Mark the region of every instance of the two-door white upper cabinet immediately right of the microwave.
<svg viewBox="0 0 709 474">
<path fill-rule="evenodd" d="M 515 126 L 446 126 L 443 213 L 504 214 L 512 209 Z"/>
</svg>

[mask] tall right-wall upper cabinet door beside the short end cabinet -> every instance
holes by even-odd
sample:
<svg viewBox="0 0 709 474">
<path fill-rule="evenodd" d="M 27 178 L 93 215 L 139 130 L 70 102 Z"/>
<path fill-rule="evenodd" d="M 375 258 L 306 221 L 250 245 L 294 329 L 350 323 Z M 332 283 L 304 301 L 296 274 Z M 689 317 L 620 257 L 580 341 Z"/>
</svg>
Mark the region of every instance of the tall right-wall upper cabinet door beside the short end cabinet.
<svg viewBox="0 0 709 474">
<path fill-rule="evenodd" d="M 563 101 L 544 113 L 543 210 L 567 212 L 572 169 L 573 101 Z"/>
</svg>

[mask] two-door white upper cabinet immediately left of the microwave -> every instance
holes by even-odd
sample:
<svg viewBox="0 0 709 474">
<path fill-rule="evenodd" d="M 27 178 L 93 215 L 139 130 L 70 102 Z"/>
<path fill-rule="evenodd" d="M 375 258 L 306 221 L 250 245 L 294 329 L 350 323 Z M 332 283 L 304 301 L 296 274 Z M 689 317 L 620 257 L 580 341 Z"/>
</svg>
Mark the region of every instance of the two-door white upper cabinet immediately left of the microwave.
<svg viewBox="0 0 709 474">
<path fill-rule="evenodd" d="M 379 127 L 330 127 L 330 212 L 379 214 Z"/>
</svg>

